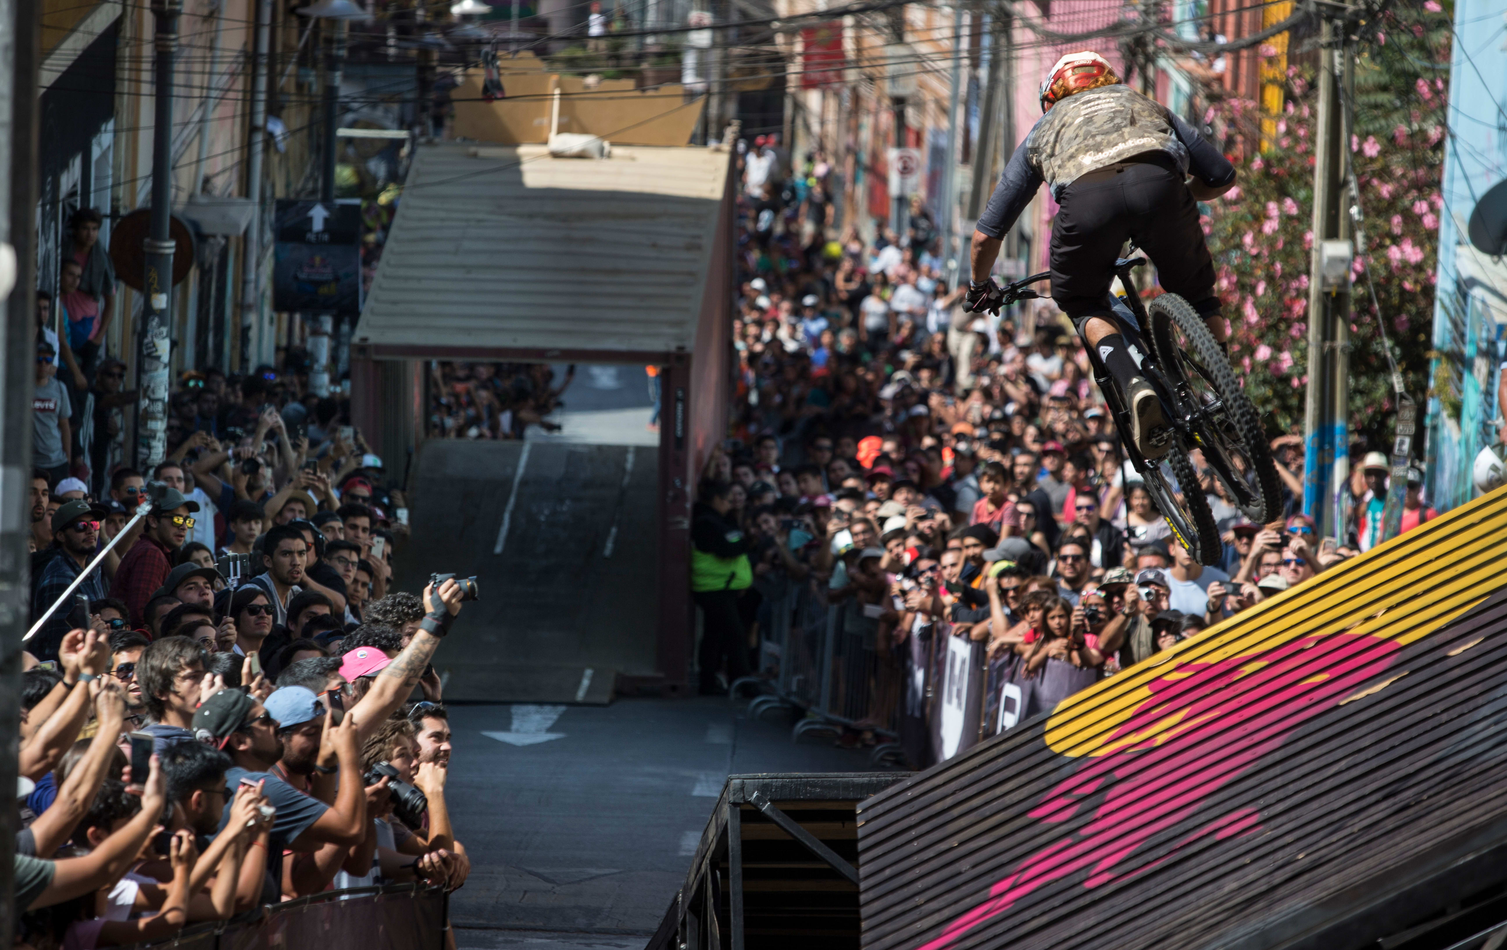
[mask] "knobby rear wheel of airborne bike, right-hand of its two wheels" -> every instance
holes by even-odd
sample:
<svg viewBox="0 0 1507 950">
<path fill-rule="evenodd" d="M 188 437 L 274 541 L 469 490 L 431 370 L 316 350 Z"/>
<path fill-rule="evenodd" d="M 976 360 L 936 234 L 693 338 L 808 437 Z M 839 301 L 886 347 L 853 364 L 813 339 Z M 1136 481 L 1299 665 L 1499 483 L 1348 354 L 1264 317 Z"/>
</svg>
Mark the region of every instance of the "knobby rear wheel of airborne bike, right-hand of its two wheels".
<svg viewBox="0 0 1507 950">
<path fill-rule="evenodd" d="M 1203 451 L 1230 502 L 1248 519 L 1257 525 L 1273 520 L 1281 511 L 1282 489 L 1261 418 L 1204 318 L 1177 294 L 1151 300 L 1147 317 L 1150 345 L 1180 403 L 1175 410 L 1197 442 L 1189 448 Z M 1180 461 L 1172 470 L 1178 484 L 1186 486 L 1178 467 L 1186 467 L 1189 477 L 1194 467 L 1186 458 Z M 1197 478 L 1191 484 L 1197 489 Z"/>
</svg>

